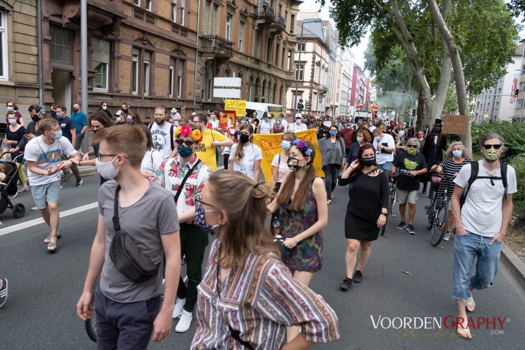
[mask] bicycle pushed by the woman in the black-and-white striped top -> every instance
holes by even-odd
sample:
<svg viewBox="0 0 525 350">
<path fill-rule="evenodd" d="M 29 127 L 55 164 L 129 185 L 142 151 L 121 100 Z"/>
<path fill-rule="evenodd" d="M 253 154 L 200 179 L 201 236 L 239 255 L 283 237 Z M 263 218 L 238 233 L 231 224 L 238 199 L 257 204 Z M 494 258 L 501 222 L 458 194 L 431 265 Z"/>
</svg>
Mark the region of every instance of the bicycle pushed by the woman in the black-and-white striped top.
<svg viewBox="0 0 525 350">
<path fill-rule="evenodd" d="M 442 179 L 445 179 L 445 190 L 441 195 L 439 191 L 434 190 L 432 200 L 429 206 L 425 206 L 426 214 L 428 216 L 427 229 L 432 230 L 430 233 L 430 242 L 434 247 L 439 245 L 443 237 L 448 224 L 448 202 L 450 199 L 447 197 L 448 183 L 454 178 L 446 176 L 444 174 L 434 173 L 432 175 L 433 183 L 441 183 Z"/>
</svg>

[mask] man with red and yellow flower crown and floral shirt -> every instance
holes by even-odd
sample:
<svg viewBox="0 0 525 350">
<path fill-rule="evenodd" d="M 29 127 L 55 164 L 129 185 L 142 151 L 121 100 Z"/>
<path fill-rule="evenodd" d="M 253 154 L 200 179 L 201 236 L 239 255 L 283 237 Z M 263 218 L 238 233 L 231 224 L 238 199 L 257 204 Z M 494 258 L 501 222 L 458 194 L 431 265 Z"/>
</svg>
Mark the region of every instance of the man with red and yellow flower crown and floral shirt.
<svg viewBox="0 0 525 350">
<path fill-rule="evenodd" d="M 173 319 L 180 319 L 175 331 L 186 332 L 192 322 L 197 285 L 201 283 L 201 267 L 208 245 L 208 234 L 188 218 L 195 217 L 195 197 L 201 195 L 212 169 L 195 154 L 202 141 L 201 130 L 197 125 L 178 126 L 174 136 L 177 155 L 162 162 L 150 180 L 170 190 L 175 196 L 181 226 L 181 256 L 186 256 L 188 280 L 187 285 L 182 278 L 178 282 Z"/>
</svg>

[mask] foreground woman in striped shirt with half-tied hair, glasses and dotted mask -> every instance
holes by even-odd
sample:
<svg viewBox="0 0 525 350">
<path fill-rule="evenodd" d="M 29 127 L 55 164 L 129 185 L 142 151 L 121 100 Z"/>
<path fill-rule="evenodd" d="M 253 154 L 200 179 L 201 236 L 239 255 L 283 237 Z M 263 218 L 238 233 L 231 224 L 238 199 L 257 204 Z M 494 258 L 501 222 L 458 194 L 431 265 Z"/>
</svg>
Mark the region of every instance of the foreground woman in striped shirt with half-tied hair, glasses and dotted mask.
<svg viewBox="0 0 525 350">
<path fill-rule="evenodd" d="M 321 181 L 315 186 L 323 189 Z M 217 173 L 196 200 L 197 225 L 217 239 L 198 286 L 192 349 L 307 349 L 339 338 L 335 312 L 279 260 L 265 223 L 271 197 L 253 179 Z M 301 332 L 285 338 L 292 325 Z"/>
</svg>

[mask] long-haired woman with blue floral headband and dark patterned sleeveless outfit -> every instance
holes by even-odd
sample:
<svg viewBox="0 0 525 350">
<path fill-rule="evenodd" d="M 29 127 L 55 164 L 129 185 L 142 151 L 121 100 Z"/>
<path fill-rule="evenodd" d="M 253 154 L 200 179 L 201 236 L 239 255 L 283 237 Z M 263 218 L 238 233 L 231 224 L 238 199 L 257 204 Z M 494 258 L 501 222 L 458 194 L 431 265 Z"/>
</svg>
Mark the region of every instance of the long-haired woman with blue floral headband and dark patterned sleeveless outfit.
<svg viewBox="0 0 525 350">
<path fill-rule="evenodd" d="M 283 236 L 281 260 L 292 272 L 293 278 L 304 285 L 310 283 L 313 273 L 322 267 L 322 231 L 328 222 L 327 193 L 322 178 L 313 166 L 316 151 L 310 142 L 291 142 L 286 175 L 277 198 L 268 206 L 270 213 L 280 209 L 280 229 Z M 299 327 L 289 327 L 292 340 Z"/>
</svg>

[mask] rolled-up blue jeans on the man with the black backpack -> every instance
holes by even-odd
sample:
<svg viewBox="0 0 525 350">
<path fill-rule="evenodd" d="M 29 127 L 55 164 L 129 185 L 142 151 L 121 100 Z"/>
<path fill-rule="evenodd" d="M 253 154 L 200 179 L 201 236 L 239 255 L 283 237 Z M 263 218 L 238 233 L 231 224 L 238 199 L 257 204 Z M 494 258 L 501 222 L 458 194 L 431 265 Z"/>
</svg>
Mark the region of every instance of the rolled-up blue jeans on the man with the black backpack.
<svg viewBox="0 0 525 350">
<path fill-rule="evenodd" d="M 493 285 L 492 279 L 498 273 L 501 242 L 495 241 L 491 246 L 491 240 L 492 237 L 479 236 L 468 231 L 465 236 L 456 235 L 454 238 L 453 298 L 470 298 L 472 295 L 469 284 L 477 290 Z M 470 275 L 476 257 L 476 273 Z"/>
</svg>

